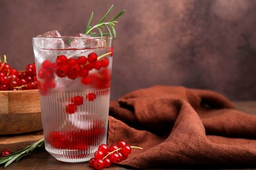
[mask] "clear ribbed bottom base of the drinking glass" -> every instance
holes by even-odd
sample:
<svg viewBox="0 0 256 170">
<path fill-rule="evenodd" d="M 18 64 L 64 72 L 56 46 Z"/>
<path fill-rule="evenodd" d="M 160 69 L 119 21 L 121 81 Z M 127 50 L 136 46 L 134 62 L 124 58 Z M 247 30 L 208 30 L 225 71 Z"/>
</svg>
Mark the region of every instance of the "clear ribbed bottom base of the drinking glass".
<svg viewBox="0 0 256 170">
<path fill-rule="evenodd" d="M 56 160 L 76 163 L 89 161 L 91 158 L 93 158 L 97 148 L 93 148 L 90 150 L 62 150 L 53 149 L 45 146 L 45 150 L 47 150 L 49 154 L 56 158 Z"/>
</svg>

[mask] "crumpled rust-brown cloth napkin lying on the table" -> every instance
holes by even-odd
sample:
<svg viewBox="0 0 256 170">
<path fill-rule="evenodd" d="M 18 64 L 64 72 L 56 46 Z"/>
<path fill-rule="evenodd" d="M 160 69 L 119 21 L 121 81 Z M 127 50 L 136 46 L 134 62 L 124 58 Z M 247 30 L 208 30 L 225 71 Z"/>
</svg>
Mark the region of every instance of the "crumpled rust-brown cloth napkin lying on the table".
<svg viewBox="0 0 256 170">
<path fill-rule="evenodd" d="M 209 90 L 154 86 L 110 103 L 108 144 L 132 149 L 119 165 L 256 165 L 256 116 Z"/>
</svg>

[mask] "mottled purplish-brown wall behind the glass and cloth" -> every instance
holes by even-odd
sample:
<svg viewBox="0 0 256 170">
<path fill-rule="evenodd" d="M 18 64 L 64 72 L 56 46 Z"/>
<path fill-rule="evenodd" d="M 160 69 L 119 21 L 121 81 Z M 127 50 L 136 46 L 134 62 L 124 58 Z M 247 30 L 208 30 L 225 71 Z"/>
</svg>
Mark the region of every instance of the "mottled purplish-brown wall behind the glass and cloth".
<svg viewBox="0 0 256 170">
<path fill-rule="evenodd" d="M 0 56 L 23 69 L 32 37 L 83 32 L 114 4 L 112 99 L 155 84 L 203 88 L 256 99 L 255 0 L 0 0 Z"/>
</svg>

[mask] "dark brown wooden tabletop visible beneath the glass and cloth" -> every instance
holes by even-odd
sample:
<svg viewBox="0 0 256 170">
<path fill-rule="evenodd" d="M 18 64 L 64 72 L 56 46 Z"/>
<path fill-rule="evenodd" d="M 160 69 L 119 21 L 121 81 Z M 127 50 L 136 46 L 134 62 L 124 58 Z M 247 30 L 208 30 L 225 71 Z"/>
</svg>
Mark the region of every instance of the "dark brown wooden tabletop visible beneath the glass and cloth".
<svg viewBox="0 0 256 170">
<path fill-rule="evenodd" d="M 256 116 L 256 101 L 234 101 L 238 110 L 253 114 Z M 255 129 L 256 130 L 256 129 Z M 256 160 L 255 160 L 256 161 Z M 254 167 L 256 169 L 256 167 Z M 44 148 L 35 150 L 32 154 L 22 158 L 18 163 L 12 163 L 6 169 L 91 169 L 88 162 L 85 163 L 64 163 L 55 160 L 53 156 L 48 154 Z M 108 169 L 125 169 L 112 165 Z M 200 168 L 202 169 L 202 168 Z M 203 168 L 204 169 L 204 168 Z M 213 169 L 213 167 L 205 167 L 205 169 Z M 223 168 L 216 168 L 223 169 Z M 224 167 L 224 169 L 230 169 Z M 231 169 L 234 169 L 231 168 Z M 237 169 L 237 168 L 235 168 Z M 239 169 L 252 169 L 251 167 L 239 167 Z"/>
</svg>

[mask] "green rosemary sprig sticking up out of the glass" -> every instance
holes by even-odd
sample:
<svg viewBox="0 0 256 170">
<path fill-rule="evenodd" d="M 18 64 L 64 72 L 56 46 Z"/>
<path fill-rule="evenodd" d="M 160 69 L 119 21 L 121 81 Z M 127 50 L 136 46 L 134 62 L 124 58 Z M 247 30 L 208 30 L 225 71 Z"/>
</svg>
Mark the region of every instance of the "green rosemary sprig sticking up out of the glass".
<svg viewBox="0 0 256 170">
<path fill-rule="evenodd" d="M 110 11 L 113 9 L 114 5 L 112 5 L 110 7 L 110 9 L 108 10 L 108 12 L 106 12 L 106 14 L 104 14 L 104 16 L 99 20 L 99 22 L 94 25 L 93 27 L 91 26 L 91 20 L 93 19 L 93 12 L 91 13 L 91 17 L 89 19 L 89 22 L 87 24 L 87 27 L 84 31 L 84 34 L 86 35 L 91 35 L 93 37 L 99 36 L 97 35 L 95 32 L 92 32 L 93 29 L 97 29 L 98 32 L 100 33 L 100 36 L 103 35 L 110 35 L 113 36 L 116 39 L 116 30 L 115 30 L 115 24 L 117 24 L 118 22 L 116 21 L 117 18 L 119 18 L 119 16 L 121 16 L 125 10 L 122 10 L 121 12 L 119 12 L 116 16 L 114 16 L 111 20 L 109 20 L 108 22 L 103 22 L 104 19 L 108 16 L 108 14 L 110 13 Z M 107 33 L 103 33 L 102 29 L 105 29 L 108 31 Z"/>
</svg>

